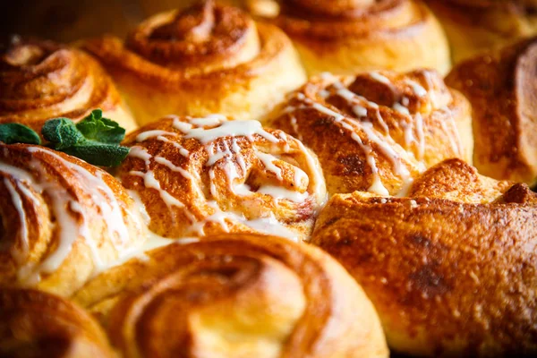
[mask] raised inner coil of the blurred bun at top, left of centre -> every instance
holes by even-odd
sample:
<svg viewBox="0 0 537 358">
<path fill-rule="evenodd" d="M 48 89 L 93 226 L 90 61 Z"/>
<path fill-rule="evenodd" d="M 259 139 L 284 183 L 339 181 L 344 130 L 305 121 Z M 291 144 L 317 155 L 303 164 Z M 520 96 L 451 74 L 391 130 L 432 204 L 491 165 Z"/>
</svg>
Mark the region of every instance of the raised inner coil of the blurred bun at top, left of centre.
<svg viewBox="0 0 537 358">
<path fill-rule="evenodd" d="M 205 71 L 215 66 L 226 69 L 250 60 L 259 51 L 250 16 L 214 3 L 200 2 L 182 12 L 151 17 L 132 30 L 125 47 L 151 63 L 192 72 L 200 66 Z"/>
</svg>

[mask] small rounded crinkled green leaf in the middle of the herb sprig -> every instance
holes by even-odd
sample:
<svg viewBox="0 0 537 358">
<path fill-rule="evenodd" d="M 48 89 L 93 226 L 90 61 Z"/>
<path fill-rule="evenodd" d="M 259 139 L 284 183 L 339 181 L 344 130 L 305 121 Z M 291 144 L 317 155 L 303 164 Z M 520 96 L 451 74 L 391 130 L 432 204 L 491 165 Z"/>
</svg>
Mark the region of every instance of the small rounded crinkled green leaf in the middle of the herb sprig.
<svg viewBox="0 0 537 358">
<path fill-rule="evenodd" d="M 50 141 L 52 148 L 62 150 L 85 141 L 84 136 L 69 118 L 55 118 L 48 120 L 41 128 L 43 138 Z"/>
</svg>

